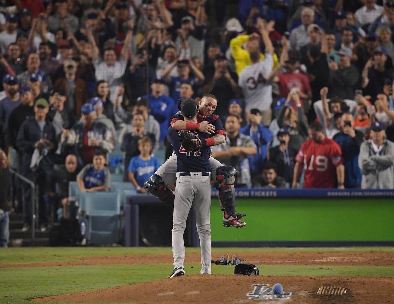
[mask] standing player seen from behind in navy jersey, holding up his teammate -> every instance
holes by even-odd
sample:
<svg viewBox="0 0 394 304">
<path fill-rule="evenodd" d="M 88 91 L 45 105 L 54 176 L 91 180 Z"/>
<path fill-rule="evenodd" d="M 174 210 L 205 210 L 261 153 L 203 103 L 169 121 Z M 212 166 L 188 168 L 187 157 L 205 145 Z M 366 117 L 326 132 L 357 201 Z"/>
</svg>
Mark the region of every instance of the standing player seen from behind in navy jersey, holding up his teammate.
<svg viewBox="0 0 394 304">
<path fill-rule="evenodd" d="M 193 99 L 184 99 L 181 114 L 187 123 L 197 124 L 197 104 Z M 211 134 L 194 131 L 168 129 L 168 141 L 177 155 L 177 187 L 175 188 L 172 247 L 174 270 L 169 278 L 185 274 L 185 245 L 183 234 L 191 204 L 196 212 L 196 226 L 201 245 L 200 273 L 211 273 L 211 179 L 210 147 L 201 142 L 211 138 Z M 193 144 L 195 149 L 193 149 Z M 199 146 L 200 145 L 200 146 Z M 199 146 L 199 147 L 198 147 Z"/>
</svg>

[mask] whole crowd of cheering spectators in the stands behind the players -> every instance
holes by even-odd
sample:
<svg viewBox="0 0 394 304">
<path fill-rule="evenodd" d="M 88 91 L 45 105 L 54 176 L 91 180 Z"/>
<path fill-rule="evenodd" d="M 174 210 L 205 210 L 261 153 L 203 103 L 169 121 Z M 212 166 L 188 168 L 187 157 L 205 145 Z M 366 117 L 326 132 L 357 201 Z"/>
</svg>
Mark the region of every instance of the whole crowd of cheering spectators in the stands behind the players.
<svg viewBox="0 0 394 304">
<path fill-rule="evenodd" d="M 44 206 L 118 146 L 145 193 L 178 99 L 214 96 L 236 187 L 393 189 L 393 30 L 391 0 L 2 0 L 0 179 Z"/>
</svg>

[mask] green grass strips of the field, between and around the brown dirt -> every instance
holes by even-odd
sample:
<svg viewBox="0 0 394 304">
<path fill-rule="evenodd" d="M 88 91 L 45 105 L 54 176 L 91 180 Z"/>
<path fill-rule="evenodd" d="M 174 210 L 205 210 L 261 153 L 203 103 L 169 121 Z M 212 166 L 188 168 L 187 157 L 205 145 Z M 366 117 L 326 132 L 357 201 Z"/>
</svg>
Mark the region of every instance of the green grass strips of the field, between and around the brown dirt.
<svg viewBox="0 0 394 304">
<path fill-rule="evenodd" d="M 187 248 L 187 252 L 200 252 Z M 392 247 L 352 248 L 212 248 L 212 252 L 394 252 Z M 9 248 L 0 251 L 0 263 L 72 262 L 78 257 L 134 254 L 169 254 L 171 248 Z M 394 276 L 394 267 L 257 265 L 264 276 Z M 0 268 L 0 304 L 28 304 L 50 295 L 137 284 L 166 278 L 171 263 L 127 265 L 80 265 Z M 199 263 L 186 263 L 186 274 L 199 273 Z M 212 265 L 214 274 L 233 274 L 234 266 Z"/>
</svg>

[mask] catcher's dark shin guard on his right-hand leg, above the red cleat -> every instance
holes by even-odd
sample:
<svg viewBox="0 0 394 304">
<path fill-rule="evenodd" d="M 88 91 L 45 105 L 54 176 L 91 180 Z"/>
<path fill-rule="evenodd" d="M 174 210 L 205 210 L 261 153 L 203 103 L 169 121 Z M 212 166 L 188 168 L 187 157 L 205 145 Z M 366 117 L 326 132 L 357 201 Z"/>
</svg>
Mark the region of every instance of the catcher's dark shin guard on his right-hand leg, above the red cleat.
<svg viewBox="0 0 394 304">
<path fill-rule="evenodd" d="M 221 166 L 216 169 L 216 181 L 219 186 L 219 202 L 222 206 L 222 211 L 227 214 L 235 214 L 235 190 L 234 182 L 237 170 L 234 167 Z"/>
</svg>

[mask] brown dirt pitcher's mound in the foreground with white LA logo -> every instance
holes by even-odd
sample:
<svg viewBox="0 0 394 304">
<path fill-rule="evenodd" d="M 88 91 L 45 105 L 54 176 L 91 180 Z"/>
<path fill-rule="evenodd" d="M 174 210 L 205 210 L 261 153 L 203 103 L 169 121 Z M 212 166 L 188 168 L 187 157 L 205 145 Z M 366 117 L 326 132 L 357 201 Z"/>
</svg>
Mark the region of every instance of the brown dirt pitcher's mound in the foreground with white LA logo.
<svg viewBox="0 0 394 304">
<path fill-rule="evenodd" d="M 271 291 L 273 284 L 278 282 L 283 286 L 279 298 Z M 393 284 L 392 277 L 184 275 L 34 301 L 138 304 L 394 303 Z"/>
</svg>

